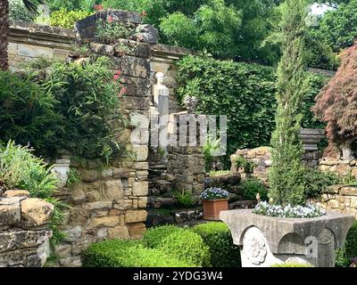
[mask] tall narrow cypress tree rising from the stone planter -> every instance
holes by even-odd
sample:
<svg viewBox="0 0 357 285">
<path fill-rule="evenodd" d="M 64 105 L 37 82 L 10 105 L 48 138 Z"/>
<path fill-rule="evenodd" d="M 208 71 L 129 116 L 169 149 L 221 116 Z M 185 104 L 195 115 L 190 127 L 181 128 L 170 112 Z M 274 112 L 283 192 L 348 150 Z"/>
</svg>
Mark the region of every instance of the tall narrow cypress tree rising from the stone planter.
<svg viewBox="0 0 357 285">
<path fill-rule="evenodd" d="M 271 144 L 270 198 L 275 204 L 304 204 L 303 144 L 299 138 L 302 100 L 307 83 L 303 70 L 306 0 L 286 0 L 282 7 L 283 56 L 278 65 L 278 110 Z"/>
</svg>

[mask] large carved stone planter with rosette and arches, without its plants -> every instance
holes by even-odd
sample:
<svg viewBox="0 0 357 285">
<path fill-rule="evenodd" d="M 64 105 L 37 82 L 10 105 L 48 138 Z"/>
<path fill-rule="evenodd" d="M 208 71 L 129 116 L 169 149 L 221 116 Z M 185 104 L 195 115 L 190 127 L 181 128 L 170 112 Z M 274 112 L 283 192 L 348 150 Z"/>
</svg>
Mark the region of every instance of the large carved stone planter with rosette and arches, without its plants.
<svg viewBox="0 0 357 285">
<path fill-rule="evenodd" d="M 260 216 L 248 210 L 220 213 L 234 243 L 242 249 L 243 267 L 300 263 L 334 267 L 335 250 L 342 248 L 353 215 L 328 213 L 317 218 Z"/>
</svg>

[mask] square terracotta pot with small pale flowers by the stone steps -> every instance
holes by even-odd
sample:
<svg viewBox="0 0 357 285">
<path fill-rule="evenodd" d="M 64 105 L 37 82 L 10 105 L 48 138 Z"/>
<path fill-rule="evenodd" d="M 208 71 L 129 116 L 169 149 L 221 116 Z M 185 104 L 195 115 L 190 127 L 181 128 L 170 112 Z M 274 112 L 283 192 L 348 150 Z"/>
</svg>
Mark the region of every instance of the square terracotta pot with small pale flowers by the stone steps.
<svg viewBox="0 0 357 285">
<path fill-rule="evenodd" d="M 228 210 L 228 191 L 211 187 L 203 191 L 203 219 L 210 221 L 220 220 L 220 211 Z"/>
</svg>

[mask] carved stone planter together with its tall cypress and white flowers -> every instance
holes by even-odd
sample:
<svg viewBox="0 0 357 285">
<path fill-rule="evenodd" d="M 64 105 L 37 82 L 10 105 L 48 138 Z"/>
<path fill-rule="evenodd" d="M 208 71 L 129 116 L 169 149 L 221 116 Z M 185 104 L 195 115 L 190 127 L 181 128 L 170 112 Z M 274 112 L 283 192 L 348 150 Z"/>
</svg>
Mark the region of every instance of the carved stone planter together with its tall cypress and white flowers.
<svg viewBox="0 0 357 285">
<path fill-rule="evenodd" d="M 353 215 L 326 213 L 307 203 L 307 168 L 301 160 L 299 136 L 303 98 L 309 78 L 303 66 L 306 0 L 286 0 L 280 23 L 283 55 L 278 65 L 276 129 L 272 134 L 270 203 L 252 211 L 232 210 L 220 218 L 241 250 L 243 267 L 298 263 L 334 267 L 335 250 L 342 248 Z"/>
</svg>

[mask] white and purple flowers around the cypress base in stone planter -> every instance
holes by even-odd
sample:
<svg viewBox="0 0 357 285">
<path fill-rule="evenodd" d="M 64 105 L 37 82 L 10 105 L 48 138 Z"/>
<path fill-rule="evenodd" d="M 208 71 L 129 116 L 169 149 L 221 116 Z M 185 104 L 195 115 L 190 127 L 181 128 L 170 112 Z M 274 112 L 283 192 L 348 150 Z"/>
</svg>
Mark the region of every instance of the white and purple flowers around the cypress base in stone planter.
<svg viewBox="0 0 357 285">
<path fill-rule="evenodd" d="M 306 206 L 291 206 L 285 207 L 280 205 L 271 205 L 266 201 L 260 202 L 254 209 L 254 214 L 263 216 L 279 216 L 279 217 L 318 217 L 326 215 L 323 208 L 307 204 Z"/>
</svg>

